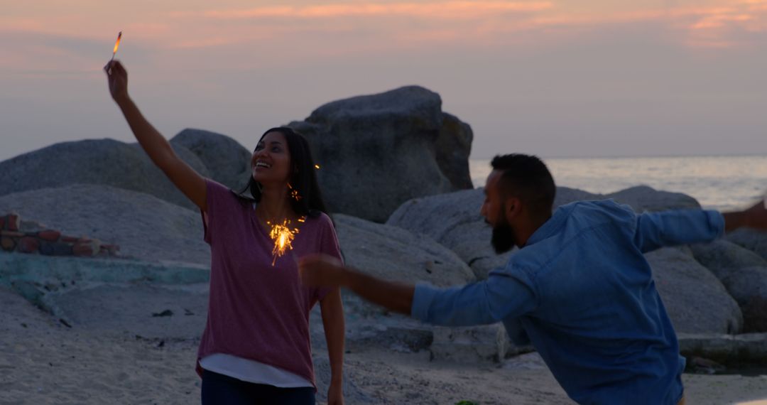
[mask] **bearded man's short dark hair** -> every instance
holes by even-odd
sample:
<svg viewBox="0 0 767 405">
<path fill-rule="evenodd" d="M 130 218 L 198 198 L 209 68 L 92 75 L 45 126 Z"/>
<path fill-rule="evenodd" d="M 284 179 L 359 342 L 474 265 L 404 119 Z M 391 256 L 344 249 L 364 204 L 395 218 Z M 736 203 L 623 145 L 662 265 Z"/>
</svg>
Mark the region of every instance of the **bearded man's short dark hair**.
<svg viewBox="0 0 767 405">
<path fill-rule="evenodd" d="M 537 156 L 510 153 L 495 156 L 490 165 L 502 173 L 498 182 L 501 196 L 522 199 L 535 214 L 551 214 L 557 188 L 542 160 Z"/>
</svg>

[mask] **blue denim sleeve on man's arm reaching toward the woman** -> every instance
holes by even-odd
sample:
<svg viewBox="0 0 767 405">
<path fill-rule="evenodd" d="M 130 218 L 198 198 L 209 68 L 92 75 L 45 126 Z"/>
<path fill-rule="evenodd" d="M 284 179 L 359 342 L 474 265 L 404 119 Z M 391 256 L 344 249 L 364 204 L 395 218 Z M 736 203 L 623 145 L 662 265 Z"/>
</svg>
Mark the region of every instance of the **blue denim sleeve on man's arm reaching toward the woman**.
<svg viewBox="0 0 767 405">
<path fill-rule="evenodd" d="M 416 285 L 413 318 L 442 326 L 493 324 L 535 308 L 535 294 L 517 278 L 492 272 L 487 280 L 451 288 Z"/>
</svg>

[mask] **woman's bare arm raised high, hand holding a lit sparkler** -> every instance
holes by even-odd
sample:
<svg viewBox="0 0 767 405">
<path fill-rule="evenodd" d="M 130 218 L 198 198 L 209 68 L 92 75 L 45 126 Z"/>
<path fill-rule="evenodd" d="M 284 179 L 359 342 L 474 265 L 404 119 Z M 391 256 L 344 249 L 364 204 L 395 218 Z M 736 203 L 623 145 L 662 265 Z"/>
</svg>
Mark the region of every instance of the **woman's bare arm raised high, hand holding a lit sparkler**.
<svg viewBox="0 0 767 405">
<path fill-rule="evenodd" d="M 128 96 L 128 73 L 119 61 L 110 61 L 104 67 L 109 80 L 109 91 L 120 107 L 130 130 L 139 144 L 171 182 L 192 200 L 202 211 L 206 209 L 205 179 L 176 155 L 170 143 L 143 117 L 133 100 Z"/>
</svg>

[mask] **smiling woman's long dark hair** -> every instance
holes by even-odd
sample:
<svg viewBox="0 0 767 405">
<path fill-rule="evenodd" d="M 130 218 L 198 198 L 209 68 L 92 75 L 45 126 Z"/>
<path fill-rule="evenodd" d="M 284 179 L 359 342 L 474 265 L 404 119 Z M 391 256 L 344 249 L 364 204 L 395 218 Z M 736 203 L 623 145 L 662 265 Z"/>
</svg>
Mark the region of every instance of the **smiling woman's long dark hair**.
<svg viewBox="0 0 767 405">
<path fill-rule="evenodd" d="M 310 217 L 319 216 L 320 212 L 328 214 L 328 209 L 325 207 L 322 193 L 320 193 L 320 187 L 317 183 L 314 159 L 311 158 L 311 150 L 309 150 L 309 143 L 306 141 L 306 138 L 290 127 L 275 127 L 266 130 L 261 138 L 258 139 L 258 142 L 260 143 L 266 134 L 270 132 L 281 133 L 288 142 L 288 152 L 290 152 L 291 160 L 291 176 L 288 183 L 293 190 L 298 191 L 298 196 L 300 197 L 298 199 L 290 199 L 293 211 L 299 216 Z M 245 191 L 249 191 L 256 202 L 261 201 L 261 189 L 258 182 L 253 179 L 253 176 L 250 177 L 248 185 L 240 193 L 245 193 Z"/>
</svg>

